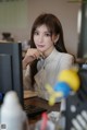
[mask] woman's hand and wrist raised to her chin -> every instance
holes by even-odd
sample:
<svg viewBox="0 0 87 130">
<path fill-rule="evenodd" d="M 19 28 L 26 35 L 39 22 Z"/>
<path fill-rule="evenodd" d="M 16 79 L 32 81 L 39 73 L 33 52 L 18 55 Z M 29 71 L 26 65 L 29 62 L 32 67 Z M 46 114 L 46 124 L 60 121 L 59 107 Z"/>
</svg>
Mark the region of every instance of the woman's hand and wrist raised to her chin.
<svg viewBox="0 0 87 130">
<path fill-rule="evenodd" d="M 29 48 L 23 59 L 23 69 L 26 69 L 27 64 L 30 64 L 35 59 L 38 59 L 41 54 L 34 48 Z"/>
</svg>

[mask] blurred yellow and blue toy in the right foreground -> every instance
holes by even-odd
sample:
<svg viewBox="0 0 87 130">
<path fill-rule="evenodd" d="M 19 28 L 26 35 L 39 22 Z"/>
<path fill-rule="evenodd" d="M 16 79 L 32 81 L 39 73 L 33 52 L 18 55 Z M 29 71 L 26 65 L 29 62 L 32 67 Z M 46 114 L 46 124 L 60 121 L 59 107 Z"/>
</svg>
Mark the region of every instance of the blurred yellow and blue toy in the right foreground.
<svg viewBox="0 0 87 130">
<path fill-rule="evenodd" d="M 79 76 L 76 69 L 61 71 L 58 76 L 58 82 L 54 84 L 53 88 L 49 84 L 46 85 L 50 95 L 49 105 L 53 105 L 57 99 L 67 97 L 72 91 L 77 92 L 79 84 Z"/>
</svg>

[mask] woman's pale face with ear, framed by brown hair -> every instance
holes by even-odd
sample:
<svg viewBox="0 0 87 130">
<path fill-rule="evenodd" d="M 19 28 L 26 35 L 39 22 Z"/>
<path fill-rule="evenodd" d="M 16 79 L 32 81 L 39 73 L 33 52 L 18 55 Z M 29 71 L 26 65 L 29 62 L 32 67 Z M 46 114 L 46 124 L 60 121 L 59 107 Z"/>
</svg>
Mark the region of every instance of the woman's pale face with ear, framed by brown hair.
<svg viewBox="0 0 87 130">
<path fill-rule="evenodd" d="M 34 43 L 36 48 L 41 51 L 46 57 L 53 50 L 55 36 L 48 31 L 46 25 L 36 28 L 34 33 Z"/>
</svg>

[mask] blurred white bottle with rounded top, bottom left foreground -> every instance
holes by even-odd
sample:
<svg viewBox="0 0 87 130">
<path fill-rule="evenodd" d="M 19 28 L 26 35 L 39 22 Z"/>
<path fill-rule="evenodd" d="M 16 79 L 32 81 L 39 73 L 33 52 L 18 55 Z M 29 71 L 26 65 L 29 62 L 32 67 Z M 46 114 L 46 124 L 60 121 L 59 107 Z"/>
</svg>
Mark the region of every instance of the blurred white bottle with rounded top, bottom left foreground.
<svg viewBox="0 0 87 130">
<path fill-rule="evenodd" d="M 10 91 L 5 94 L 0 110 L 0 123 L 7 130 L 28 130 L 28 120 L 18 102 L 17 94 Z"/>
</svg>

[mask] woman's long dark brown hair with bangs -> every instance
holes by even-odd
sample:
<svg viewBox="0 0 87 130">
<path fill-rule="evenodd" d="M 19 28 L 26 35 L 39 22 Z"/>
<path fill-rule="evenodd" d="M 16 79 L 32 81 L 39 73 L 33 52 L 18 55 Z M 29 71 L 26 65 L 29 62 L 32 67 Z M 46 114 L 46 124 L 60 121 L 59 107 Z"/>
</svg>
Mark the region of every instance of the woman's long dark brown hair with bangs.
<svg viewBox="0 0 87 130">
<path fill-rule="evenodd" d="M 63 29 L 59 19 L 50 13 L 40 14 L 34 22 L 30 33 L 30 48 L 36 48 L 34 43 L 34 33 L 38 26 L 46 25 L 48 31 L 51 33 L 51 36 L 59 35 L 59 39 L 54 44 L 54 47 L 60 52 L 66 52 L 63 39 Z M 35 60 L 30 66 L 30 76 L 32 76 L 32 85 L 34 85 L 34 75 L 37 73 L 37 62 Z"/>
</svg>

